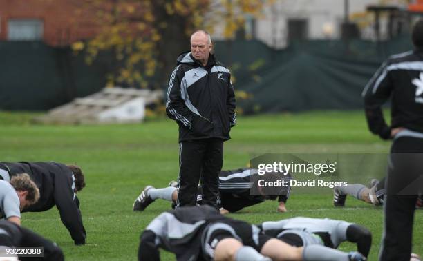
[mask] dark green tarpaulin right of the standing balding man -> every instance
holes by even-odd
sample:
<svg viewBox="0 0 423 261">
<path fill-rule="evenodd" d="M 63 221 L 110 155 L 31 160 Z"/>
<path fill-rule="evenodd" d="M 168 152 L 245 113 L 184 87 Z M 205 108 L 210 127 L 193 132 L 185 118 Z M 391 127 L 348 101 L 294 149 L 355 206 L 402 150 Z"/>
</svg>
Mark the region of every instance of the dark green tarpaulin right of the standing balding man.
<svg viewBox="0 0 423 261">
<path fill-rule="evenodd" d="M 361 91 L 381 62 L 410 48 L 408 37 L 379 44 L 307 41 L 279 52 L 251 46 L 243 56 L 234 48 L 235 57 L 249 57 L 243 64 L 264 60 L 258 70 L 234 71 L 236 89 L 251 96 L 238 104 L 244 113 L 362 108 Z"/>
</svg>

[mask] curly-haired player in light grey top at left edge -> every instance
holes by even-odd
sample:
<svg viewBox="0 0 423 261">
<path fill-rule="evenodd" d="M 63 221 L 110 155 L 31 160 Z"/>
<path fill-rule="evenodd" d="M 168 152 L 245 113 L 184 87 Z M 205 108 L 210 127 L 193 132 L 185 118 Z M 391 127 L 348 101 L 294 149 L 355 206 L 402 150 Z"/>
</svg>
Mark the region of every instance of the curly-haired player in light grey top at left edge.
<svg viewBox="0 0 423 261">
<path fill-rule="evenodd" d="M 39 190 L 28 174 L 16 175 L 10 183 L 0 180 L 0 219 L 20 225 L 21 210 L 38 199 Z"/>
</svg>

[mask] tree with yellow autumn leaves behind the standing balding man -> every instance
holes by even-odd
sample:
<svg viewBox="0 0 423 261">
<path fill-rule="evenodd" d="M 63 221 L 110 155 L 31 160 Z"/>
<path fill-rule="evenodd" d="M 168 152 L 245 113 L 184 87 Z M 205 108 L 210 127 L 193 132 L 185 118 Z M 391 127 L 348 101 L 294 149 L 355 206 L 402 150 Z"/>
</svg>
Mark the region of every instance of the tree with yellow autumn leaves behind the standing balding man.
<svg viewBox="0 0 423 261">
<path fill-rule="evenodd" d="M 245 14 L 259 15 L 261 0 L 90 0 L 81 12 L 91 10 L 100 32 L 73 50 L 85 50 L 91 63 L 100 52 L 110 52 L 109 86 L 124 84 L 160 88 L 180 52 L 189 50 L 189 35 L 205 28 L 213 32 L 223 24 L 223 37 L 231 39 L 243 28 Z M 148 86 L 155 79 L 156 86 Z"/>
</svg>

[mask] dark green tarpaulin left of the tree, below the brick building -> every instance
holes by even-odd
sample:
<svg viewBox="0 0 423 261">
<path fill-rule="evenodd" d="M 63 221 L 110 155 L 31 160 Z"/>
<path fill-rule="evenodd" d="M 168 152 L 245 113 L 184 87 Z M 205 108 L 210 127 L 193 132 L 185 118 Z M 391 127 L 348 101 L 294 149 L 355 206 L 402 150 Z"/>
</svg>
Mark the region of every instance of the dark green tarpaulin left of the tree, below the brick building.
<svg viewBox="0 0 423 261">
<path fill-rule="evenodd" d="M 104 88 L 103 61 L 87 66 L 71 48 L 0 41 L 0 110 L 47 110 Z"/>
</svg>

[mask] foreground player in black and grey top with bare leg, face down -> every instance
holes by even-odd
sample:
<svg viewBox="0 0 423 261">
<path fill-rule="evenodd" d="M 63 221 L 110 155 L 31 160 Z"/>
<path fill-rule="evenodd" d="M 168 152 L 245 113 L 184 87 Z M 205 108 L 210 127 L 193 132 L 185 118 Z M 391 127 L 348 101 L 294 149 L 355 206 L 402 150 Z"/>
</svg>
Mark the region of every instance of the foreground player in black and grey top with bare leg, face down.
<svg viewBox="0 0 423 261">
<path fill-rule="evenodd" d="M 160 260 L 158 249 L 177 260 L 366 260 L 319 244 L 292 247 L 252 224 L 227 218 L 211 206 L 189 206 L 160 214 L 143 231 L 138 260 Z"/>
</svg>

